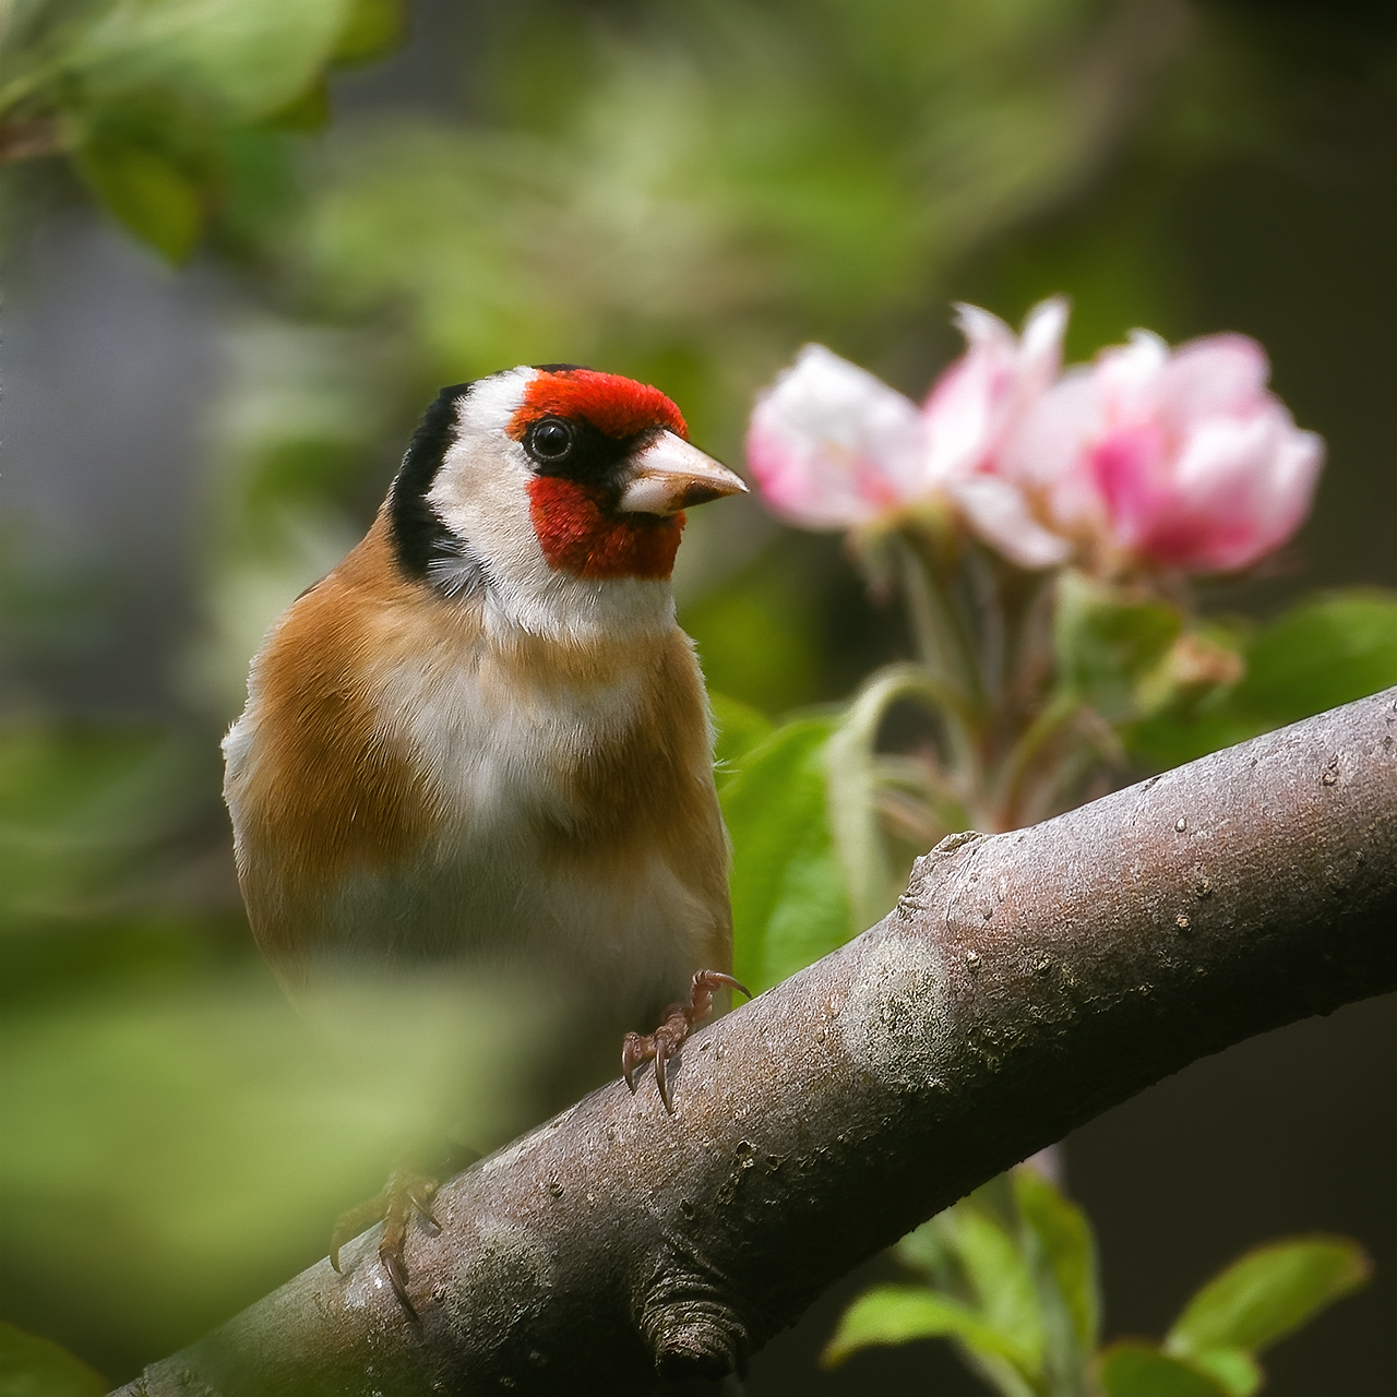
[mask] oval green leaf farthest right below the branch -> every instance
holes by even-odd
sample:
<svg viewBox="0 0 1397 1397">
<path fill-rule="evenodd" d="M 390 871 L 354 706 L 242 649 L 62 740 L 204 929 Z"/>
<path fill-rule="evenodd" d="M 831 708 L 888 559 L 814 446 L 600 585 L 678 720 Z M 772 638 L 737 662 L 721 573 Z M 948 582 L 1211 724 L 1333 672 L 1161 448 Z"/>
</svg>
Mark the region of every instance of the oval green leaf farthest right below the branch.
<svg viewBox="0 0 1397 1397">
<path fill-rule="evenodd" d="M 1348 1238 L 1273 1242 L 1208 1281 L 1169 1330 L 1165 1347 L 1171 1354 L 1259 1352 L 1358 1289 L 1370 1273 L 1363 1249 Z"/>
</svg>

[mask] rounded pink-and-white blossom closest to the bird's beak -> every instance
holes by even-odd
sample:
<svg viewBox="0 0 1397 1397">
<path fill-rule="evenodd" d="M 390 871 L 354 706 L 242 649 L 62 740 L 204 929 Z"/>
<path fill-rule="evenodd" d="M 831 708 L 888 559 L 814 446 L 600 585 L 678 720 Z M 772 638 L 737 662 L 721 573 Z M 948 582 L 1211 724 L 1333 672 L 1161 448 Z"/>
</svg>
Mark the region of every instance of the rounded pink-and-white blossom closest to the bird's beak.
<svg viewBox="0 0 1397 1397">
<path fill-rule="evenodd" d="M 858 528 L 926 492 L 916 405 L 824 345 L 806 345 L 757 400 L 747 465 L 802 528 Z"/>
</svg>

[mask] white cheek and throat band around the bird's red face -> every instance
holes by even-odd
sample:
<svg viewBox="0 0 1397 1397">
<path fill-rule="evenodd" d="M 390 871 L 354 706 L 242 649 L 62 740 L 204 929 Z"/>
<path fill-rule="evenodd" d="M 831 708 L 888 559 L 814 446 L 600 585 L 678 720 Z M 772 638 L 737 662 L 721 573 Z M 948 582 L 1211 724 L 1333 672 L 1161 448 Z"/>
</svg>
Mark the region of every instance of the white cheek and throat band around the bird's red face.
<svg viewBox="0 0 1397 1397">
<path fill-rule="evenodd" d="M 675 604 L 666 581 L 583 578 L 543 556 L 529 518 L 534 467 L 506 432 L 535 374 L 509 369 L 471 387 L 457 404 L 455 441 L 427 492 L 462 556 L 479 566 L 486 624 L 570 640 L 668 630 Z"/>
</svg>

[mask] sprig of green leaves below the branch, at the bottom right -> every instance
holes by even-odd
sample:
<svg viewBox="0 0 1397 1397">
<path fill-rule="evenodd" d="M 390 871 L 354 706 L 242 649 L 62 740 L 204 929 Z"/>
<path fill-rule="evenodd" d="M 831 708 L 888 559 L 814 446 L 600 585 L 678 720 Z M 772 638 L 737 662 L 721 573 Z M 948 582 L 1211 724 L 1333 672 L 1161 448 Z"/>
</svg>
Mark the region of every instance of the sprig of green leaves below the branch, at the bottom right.
<svg viewBox="0 0 1397 1397">
<path fill-rule="evenodd" d="M 1162 1344 L 1099 1348 L 1095 1241 L 1032 1165 L 977 1189 L 898 1243 L 919 1277 L 861 1295 L 824 1352 L 950 1340 L 1003 1397 L 1252 1397 L 1256 1355 L 1362 1287 L 1356 1242 L 1308 1236 L 1248 1252 L 1185 1306 Z"/>
</svg>

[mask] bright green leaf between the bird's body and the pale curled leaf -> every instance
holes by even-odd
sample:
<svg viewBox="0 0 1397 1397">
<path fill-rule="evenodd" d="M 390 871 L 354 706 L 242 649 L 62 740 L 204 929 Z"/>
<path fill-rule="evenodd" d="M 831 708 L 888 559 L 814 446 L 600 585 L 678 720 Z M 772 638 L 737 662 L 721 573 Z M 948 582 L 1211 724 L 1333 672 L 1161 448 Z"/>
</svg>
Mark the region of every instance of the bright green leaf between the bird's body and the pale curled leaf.
<svg viewBox="0 0 1397 1397">
<path fill-rule="evenodd" d="M 830 841 L 830 718 L 798 718 L 753 747 L 722 788 L 732 834 L 738 978 L 761 990 L 842 946 L 848 893 Z"/>
</svg>

